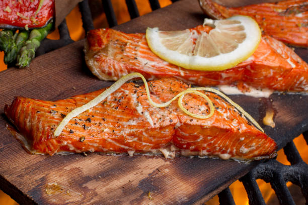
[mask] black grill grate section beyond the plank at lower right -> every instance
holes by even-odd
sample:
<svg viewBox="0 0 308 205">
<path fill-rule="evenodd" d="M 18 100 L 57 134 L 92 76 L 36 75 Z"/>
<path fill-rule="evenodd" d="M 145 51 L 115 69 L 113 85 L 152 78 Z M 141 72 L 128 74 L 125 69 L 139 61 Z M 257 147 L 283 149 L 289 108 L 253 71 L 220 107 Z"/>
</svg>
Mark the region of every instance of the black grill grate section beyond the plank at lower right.
<svg viewBox="0 0 308 205">
<path fill-rule="evenodd" d="M 308 145 L 308 131 L 304 132 L 303 136 Z M 270 183 L 281 205 L 295 205 L 286 186 L 288 181 L 300 187 L 306 204 L 308 204 L 308 164 L 301 159 L 293 141 L 289 142 L 283 148 L 283 151 L 291 165 L 284 165 L 275 159 L 270 159 L 258 164 L 240 179 L 246 189 L 250 205 L 265 205 L 264 198 L 256 182 L 257 179 Z M 235 204 L 229 188 L 221 191 L 218 197 L 220 204 Z"/>
</svg>

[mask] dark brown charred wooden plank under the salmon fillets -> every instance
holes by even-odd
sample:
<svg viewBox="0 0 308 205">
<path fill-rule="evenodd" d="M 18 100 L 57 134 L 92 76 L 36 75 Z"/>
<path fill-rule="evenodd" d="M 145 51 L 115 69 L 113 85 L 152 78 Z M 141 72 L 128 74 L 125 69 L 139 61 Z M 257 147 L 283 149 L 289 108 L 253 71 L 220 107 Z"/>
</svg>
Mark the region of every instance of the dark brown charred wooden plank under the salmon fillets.
<svg viewBox="0 0 308 205">
<path fill-rule="evenodd" d="M 115 29 L 144 32 L 147 27 L 186 29 L 202 23 L 197 1 L 183 0 L 136 18 Z M 0 73 L 0 188 L 22 204 L 202 204 L 251 170 L 257 163 L 136 155 L 30 155 L 6 129 L 5 104 L 16 95 L 57 100 L 108 86 L 87 68 L 84 41 L 36 58 L 29 68 Z M 296 49 L 307 58 L 306 49 Z M 307 59 L 305 59 L 307 61 Z M 75 88 L 75 89 L 74 89 Z M 275 110 L 276 127 L 266 133 L 283 147 L 308 130 L 307 95 L 278 94 L 270 98 L 232 98 L 259 123 L 268 108 Z M 62 190 L 48 195 L 48 183 Z M 147 196 L 151 192 L 153 200 Z"/>
</svg>

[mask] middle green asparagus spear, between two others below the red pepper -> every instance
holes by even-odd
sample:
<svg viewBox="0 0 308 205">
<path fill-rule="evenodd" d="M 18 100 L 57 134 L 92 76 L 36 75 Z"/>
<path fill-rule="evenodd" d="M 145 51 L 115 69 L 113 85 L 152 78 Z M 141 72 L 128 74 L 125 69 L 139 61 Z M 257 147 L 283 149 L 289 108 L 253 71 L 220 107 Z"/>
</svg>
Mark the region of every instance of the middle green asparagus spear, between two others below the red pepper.
<svg viewBox="0 0 308 205">
<path fill-rule="evenodd" d="M 13 45 L 11 46 L 9 51 L 5 52 L 4 61 L 6 64 L 13 63 L 16 60 L 20 49 L 25 44 L 28 37 L 29 32 L 27 31 L 19 32 L 19 34 L 14 35 Z"/>
</svg>

